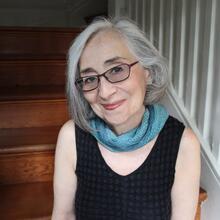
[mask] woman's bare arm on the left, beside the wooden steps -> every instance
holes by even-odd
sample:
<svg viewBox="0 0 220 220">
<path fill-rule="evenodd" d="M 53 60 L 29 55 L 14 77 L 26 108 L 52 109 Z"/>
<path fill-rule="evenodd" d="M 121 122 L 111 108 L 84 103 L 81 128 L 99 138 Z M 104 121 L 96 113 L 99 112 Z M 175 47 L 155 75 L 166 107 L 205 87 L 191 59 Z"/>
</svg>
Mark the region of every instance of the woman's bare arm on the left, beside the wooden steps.
<svg viewBox="0 0 220 220">
<path fill-rule="evenodd" d="M 52 220 L 75 220 L 75 167 L 75 127 L 72 121 L 68 121 L 59 132 L 56 146 Z"/>
</svg>

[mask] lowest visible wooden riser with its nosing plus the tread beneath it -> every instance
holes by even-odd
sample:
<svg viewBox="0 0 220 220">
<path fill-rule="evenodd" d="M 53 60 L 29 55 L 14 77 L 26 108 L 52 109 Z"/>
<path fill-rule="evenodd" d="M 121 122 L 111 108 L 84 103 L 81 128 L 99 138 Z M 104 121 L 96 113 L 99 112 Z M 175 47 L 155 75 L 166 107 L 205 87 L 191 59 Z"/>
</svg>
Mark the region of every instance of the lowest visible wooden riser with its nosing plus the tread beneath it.
<svg viewBox="0 0 220 220">
<path fill-rule="evenodd" d="M 0 151 L 0 219 L 51 219 L 55 145 Z"/>
</svg>

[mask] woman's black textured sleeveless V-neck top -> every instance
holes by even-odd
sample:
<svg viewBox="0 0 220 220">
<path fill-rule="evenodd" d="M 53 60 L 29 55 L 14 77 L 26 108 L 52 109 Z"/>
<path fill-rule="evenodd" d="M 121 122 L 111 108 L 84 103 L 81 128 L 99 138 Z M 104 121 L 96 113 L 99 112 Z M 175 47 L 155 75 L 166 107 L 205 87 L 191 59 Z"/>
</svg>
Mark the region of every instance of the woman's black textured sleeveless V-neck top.
<svg viewBox="0 0 220 220">
<path fill-rule="evenodd" d="M 169 117 L 144 163 L 127 176 L 104 161 L 96 139 L 76 126 L 77 220 L 170 220 L 171 189 L 184 126 Z"/>
</svg>

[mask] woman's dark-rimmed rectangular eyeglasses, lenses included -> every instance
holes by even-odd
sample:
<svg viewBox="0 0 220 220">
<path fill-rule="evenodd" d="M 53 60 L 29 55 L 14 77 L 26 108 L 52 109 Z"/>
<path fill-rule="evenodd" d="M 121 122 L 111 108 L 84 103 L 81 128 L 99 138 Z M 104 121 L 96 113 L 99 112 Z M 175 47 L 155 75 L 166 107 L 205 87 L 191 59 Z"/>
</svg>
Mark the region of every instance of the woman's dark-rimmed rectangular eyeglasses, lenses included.
<svg viewBox="0 0 220 220">
<path fill-rule="evenodd" d="M 138 61 L 131 64 L 123 63 L 105 71 L 100 75 L 80 77 L 75 81 L 75 85 L 83 92 L 89 92 L 96 89 L 99 86 L 100 77 L 102 76 L 104 76 L 105 79 L 110 83 L 124 81 L 129 78 L 131 67 L 137 63 Z"/>
</svg>

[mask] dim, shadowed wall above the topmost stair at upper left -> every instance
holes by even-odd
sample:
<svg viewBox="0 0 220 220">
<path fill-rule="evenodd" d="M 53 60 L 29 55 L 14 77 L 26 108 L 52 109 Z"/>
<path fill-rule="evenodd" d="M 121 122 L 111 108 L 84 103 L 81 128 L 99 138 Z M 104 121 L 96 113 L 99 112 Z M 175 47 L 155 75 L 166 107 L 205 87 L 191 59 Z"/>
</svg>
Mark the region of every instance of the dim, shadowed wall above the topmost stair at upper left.
<svg viewBox="0 0 220 220">
<path fill-rule="evenodd" d="M 0 26 L 78 27 L 107 7 L 107 0 L 1 0 Z"/>
</svg>

